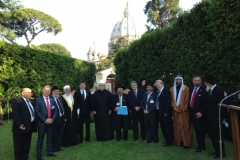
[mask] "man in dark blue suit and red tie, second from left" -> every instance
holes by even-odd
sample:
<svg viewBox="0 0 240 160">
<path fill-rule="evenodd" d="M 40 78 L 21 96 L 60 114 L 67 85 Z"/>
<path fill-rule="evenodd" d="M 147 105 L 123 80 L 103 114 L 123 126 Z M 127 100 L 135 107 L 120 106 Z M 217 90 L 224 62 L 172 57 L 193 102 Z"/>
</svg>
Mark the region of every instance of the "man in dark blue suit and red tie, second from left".
<svg viewBox="0 0 240 160">
<path fill-rule="evenodd" d="M 49 97 L 51 93 L 50 86 L 44 86 L 43 95 L 35 100 L 34 107 L 37 115 L 38 140 L 37 140 L 37 159 L 42 159 L 42 147 L 45 133 L 47 133 L 47 156 L 55 156 L 52 153 L 53 140 L 53 122 L 57 117 L 57 105 L 55 101 Z"/>
</svg>

